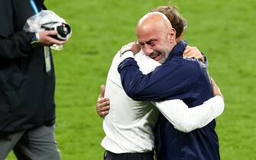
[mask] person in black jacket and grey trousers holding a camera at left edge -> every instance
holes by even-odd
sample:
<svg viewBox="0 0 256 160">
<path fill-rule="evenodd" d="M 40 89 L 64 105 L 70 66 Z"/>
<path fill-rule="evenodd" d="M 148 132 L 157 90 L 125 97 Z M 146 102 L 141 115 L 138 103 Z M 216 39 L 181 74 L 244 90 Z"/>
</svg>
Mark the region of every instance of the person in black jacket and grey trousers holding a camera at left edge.
<svg viewBox="0 0 256 160">
<path fill-rule="evenodd" d="M 19 160 L 60 160 L 49 46 L 66 40 L 53 38 L 55 30 L 22 29 L 42 9 L 46 9 L 44 0 L 0 1 L 0 160 L 11 149 Z"/>
</svg>

